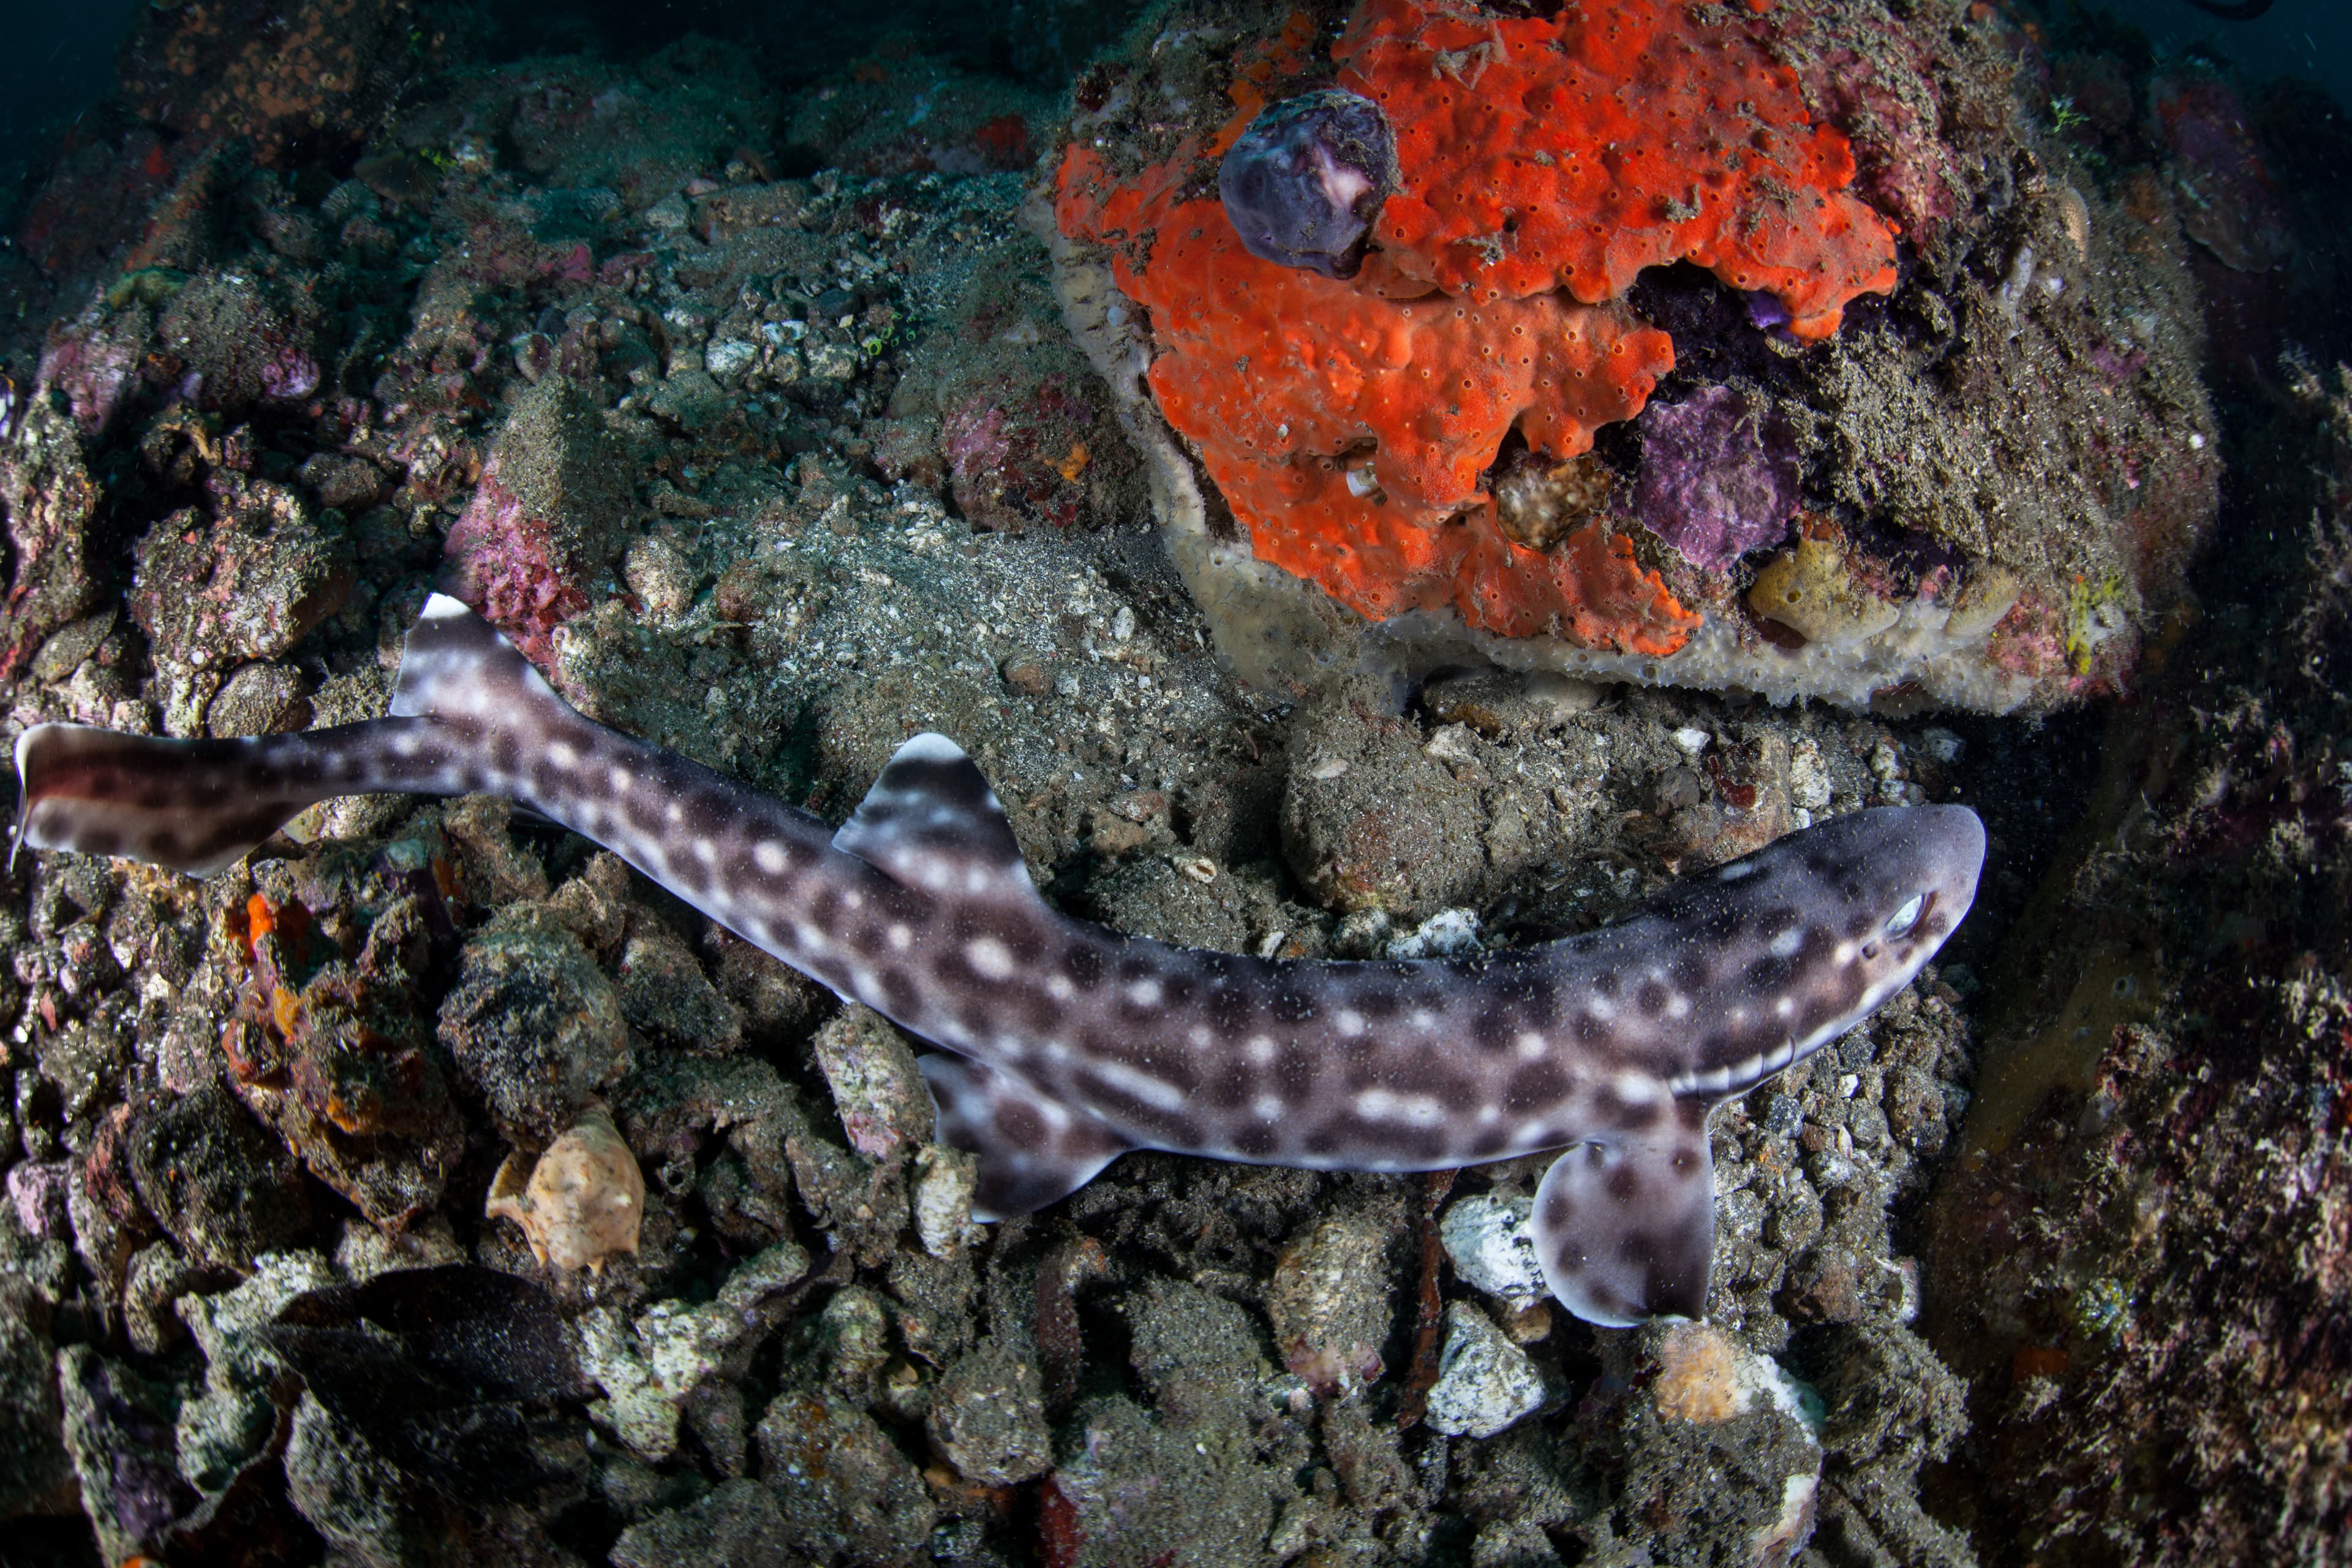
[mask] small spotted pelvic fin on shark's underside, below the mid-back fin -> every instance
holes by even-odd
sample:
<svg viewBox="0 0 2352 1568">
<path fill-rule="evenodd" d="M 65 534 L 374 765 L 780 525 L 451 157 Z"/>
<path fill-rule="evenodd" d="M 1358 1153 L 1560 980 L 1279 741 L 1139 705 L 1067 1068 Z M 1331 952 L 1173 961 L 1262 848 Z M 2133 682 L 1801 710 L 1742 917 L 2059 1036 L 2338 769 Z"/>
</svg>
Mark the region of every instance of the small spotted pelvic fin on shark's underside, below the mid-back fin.
<svg viewBox="0 0 2352 1568">
<path fill-rule="evenodd" d="M 962 1056 L 924 1056 L 938 1140 L 981 1157 L 974 1220 L 1009 1220 L 1063 1199 L 1136 1147 L 1028 1079 Z"/>
</svg>

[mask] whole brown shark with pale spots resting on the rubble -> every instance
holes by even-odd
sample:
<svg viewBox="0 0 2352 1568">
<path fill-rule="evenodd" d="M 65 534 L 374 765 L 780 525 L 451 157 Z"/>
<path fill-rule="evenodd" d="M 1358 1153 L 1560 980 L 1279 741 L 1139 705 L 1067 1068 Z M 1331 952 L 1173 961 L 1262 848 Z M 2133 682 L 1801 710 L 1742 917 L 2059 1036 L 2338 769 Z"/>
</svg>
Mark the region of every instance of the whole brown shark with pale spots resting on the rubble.
<svg viewBox="0 0 2352 1568">
<path fill-rule="evenodd" d="M 1364 964 L 1174 947 L 1051 910 L 943 736 L 898 748 L 835 832 L 581 717 L 442 595 L 386 719 L 256 741 L 42 724 L 16 771 L 19 846 L 195 875 L 336 795 L 522 802 L 941 1046 L 924 1077 L 941 1138 L 978 1154 L 983 1218 L 1138 1147 L 1322 1171 L 1559 1150 L 1538 1258 L 1562 1305 L 1616 1326 L 1703 1314 L 1708 1114 L 1907 985 L 1985 853 L 1962 806 L 1856 811 L 1538 947 Z"/>
</svg>

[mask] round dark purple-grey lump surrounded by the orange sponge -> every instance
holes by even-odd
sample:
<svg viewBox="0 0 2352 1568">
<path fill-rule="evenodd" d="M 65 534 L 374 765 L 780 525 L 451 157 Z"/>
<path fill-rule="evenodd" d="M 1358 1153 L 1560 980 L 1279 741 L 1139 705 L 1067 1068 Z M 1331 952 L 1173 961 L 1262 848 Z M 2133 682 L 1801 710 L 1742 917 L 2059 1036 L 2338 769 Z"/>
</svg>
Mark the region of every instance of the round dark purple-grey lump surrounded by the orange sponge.
<svg viewBox="0 0 2352 1568">
<path fill-rule="evenodd" d="M 1268 106 L 1216 174 L 1225 216 L 1251 256 L 1324 277 L 1355 277 L 1381 202 L 1395 188 L 1397 136 L 1388 115 L 1336 87 Z"/>
</svg>

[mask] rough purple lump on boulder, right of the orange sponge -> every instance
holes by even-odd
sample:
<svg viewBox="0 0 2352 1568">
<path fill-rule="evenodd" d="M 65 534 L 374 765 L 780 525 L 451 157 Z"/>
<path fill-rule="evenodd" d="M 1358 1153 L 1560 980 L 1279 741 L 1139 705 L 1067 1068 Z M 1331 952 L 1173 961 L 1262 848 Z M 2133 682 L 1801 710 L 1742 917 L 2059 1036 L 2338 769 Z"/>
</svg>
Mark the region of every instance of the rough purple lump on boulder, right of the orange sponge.
<svg viewBox="0 0 2352 1568">
<path fill-rule="evenodd" d="M 1750 550 L 1788 538 L 1797 484 L 1788 421 L 1729 386 L 1642 411 L 1635 501 L 1649 531 L 1693 567 L 1729 571 Z"/>
</svg>

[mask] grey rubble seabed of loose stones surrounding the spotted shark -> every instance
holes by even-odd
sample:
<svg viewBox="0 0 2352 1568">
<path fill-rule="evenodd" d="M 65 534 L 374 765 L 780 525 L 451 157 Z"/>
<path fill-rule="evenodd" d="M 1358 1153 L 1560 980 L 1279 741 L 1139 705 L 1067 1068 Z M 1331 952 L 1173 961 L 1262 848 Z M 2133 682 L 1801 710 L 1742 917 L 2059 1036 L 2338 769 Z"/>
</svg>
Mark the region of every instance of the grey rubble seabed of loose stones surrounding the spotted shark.
<svg viewBox="0 0 2352 1568">
<path fill-rule="evenodd" d="M 901 1034 L 501 802 L 334 802 L 205 884 L 24 856 L 9 1561 L 1541 1568 L 2042 1540 L 1983 1519 L 2070 1476 L 2067 1446 L 2004 1467 L 1962 1434 L 2063 1420 L 2171 1276 L 2119 1255 L 2067 1281 L 2018 1248 L 2030 1312 L 1971 1328 L 2016 1342 L 1976 1366 L 1922 1338 L 1912 1220 L 1962 1143 L 2002 922 L 2086 788 L 2079 729 L 1559 672 L 1439 675 L 1404 712 L 1374 679 L 1244 684 L 1155 531 L 1164 463 L 1018 221 L 1063 103 L 908 49 L 790 96 L 703 40 L 487 66 L 405 9 L 292 7 L 289 59 L 334 56 L 299 99 L 240 54 L 169 110 L 205 125 L 129 122 L 28 202 L 0 261 L 38 303 L 0 339 L 9 736 L 372 717 L 452 574 L 583 712 L 833 818 L 908 733 L 950 733 L 1051 898 L 1176 943 L 1538 940 L 1926 799 L 1985 811 L 1994 865 L 1943 966 L 1717 1117 L 1708 1324 L 1618 1333 L 1529 1284 L 1536 1161 L 1449 1185 L 1131 1154 L 974 1227 Z M 230 47 L 207 14 L 141 16 L 134 113 Z M 386 115 L 400 49 L 433 92 Z M 2296 407 L 2343 425 L 2319 390 Z M 2345 764 L 2312 703 L 2279 719 L 2291 764 L 2263 762 L 2258 708 L 2197 731 L 2232 790 L 2274 795 L 2166 832 L 2234 853 L 2291 820 L 2279 863 L 2340 889 L 2307 802 Z M 2279 1030 L 2343 1032 L 2340 907 L 2263 1004 Z M 2171 980 L 2114 943 L 2147 999 L 2100 1013 L 2138 1030 L 2110 1077 L 2140 1084 Z M 2291 1180 L 2340 1201 L 2340 1119 L 2310 1138 Z M 2067 1147 L 2044 1180 L 2100 1187 Z M 1952 1192 L 1938 1267 L 1966 1272 L 1969 1215 L 2009 1211 Z M 2281 1422 L 2232 1441 L 2340 1453 Z M 1922 1505 L 1945 1458 L 1973 1505 Z M 2319 1467 L 2277 1486 L 2343 1528 Z M 2124 1540 L 2171 1507 L 2150 1495 L 2046 1528 Z"/>
</svg>

